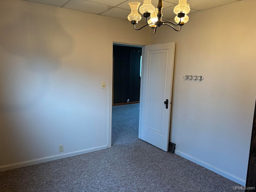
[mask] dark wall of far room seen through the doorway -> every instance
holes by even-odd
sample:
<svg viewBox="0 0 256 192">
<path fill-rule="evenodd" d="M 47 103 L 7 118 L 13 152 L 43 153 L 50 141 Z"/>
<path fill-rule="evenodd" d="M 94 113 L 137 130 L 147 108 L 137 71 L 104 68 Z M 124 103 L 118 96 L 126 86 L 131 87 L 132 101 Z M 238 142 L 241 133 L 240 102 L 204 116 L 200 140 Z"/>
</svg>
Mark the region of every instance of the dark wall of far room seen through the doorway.
<svg viewBox="0 0 256 192">
<path fill-rule="evenodd" d="M 113 44 L 112 105 L 140 102 L 142 46 Z"/>
</svg>

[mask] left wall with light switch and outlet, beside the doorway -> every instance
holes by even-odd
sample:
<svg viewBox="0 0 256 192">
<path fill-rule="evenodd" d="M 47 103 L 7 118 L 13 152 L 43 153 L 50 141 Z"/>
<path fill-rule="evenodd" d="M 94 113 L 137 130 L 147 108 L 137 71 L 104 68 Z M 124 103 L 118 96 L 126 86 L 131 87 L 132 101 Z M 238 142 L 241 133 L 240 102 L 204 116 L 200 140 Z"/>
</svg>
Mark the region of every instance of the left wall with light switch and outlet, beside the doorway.
<svg viewBox="0 0 256 192">
<path fill-rule="evenodd" d="M 108 146 L 109 36 L 150 39 L 128 20 L 1 0 L 0 170 Z"/>
</svg>

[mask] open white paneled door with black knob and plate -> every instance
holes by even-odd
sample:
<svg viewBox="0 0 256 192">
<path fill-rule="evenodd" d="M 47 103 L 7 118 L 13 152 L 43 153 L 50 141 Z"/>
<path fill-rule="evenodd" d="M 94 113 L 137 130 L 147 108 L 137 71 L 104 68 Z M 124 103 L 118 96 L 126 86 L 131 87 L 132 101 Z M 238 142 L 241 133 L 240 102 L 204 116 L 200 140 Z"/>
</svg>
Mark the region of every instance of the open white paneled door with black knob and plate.
<svg viewBox="0 0 256 192">
<path fill-rule="evenodd" d="M 174 42 L 145 46 L 142 69 L 139 138 L 164 151 L 169 143 L 174 50 Z"/>
</svg>

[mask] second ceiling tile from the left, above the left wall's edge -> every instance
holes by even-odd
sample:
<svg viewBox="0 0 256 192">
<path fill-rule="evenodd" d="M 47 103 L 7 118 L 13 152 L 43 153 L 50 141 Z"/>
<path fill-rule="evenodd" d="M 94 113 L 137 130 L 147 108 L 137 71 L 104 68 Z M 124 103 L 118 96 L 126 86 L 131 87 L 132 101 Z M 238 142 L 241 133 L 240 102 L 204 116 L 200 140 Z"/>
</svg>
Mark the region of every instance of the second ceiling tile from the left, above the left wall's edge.
<svg viewBox="0 0 256 192">
<path fill-rule="evenodd" d="M 87 13 L 100 14 L 110 8 L 112 6 L 99 4 L 91 1 L 85 0 L 69 0 L 63 8 L 78 10 Z"/>
</svg>

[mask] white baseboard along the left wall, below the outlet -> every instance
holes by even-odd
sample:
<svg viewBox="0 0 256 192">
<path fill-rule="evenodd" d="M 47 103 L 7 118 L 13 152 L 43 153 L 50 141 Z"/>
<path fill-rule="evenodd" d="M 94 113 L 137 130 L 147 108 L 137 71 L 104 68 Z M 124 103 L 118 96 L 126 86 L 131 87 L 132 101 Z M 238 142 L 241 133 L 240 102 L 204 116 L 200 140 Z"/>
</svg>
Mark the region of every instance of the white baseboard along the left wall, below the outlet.
<svg viewBox="0 0 256 192">
<path fill-rule="evenodd" d="M 103 145 L 103 146 L 99 146 L 99 147 L 93 147 L 93 148 L 89 148 L 89 149 L 64 153 L 64 154 L 60 154 L 60 155 L 48 156 L 48 157 L 8 164 L 8 165 L 0 166 L 0 172 L 6 171 L 6 170 L 11 170 L 11 169 L 16 169 L 16 168 L 20 168 L 20 167 L 30 166 L 30 165 L 34 165 L 34 164 L 44 163 L 44 162 L 48 162 L 48 161 L 53 161 L 53 160 L 57 160 L 57 159 L 65 158 L 65 157 L 81 155 L 84 153 L 98 151 L 98 150 L 102 150 L 102 149 L 106 149 L 106 148 L 108 148 L 108 145 Z"/>
</svg>

